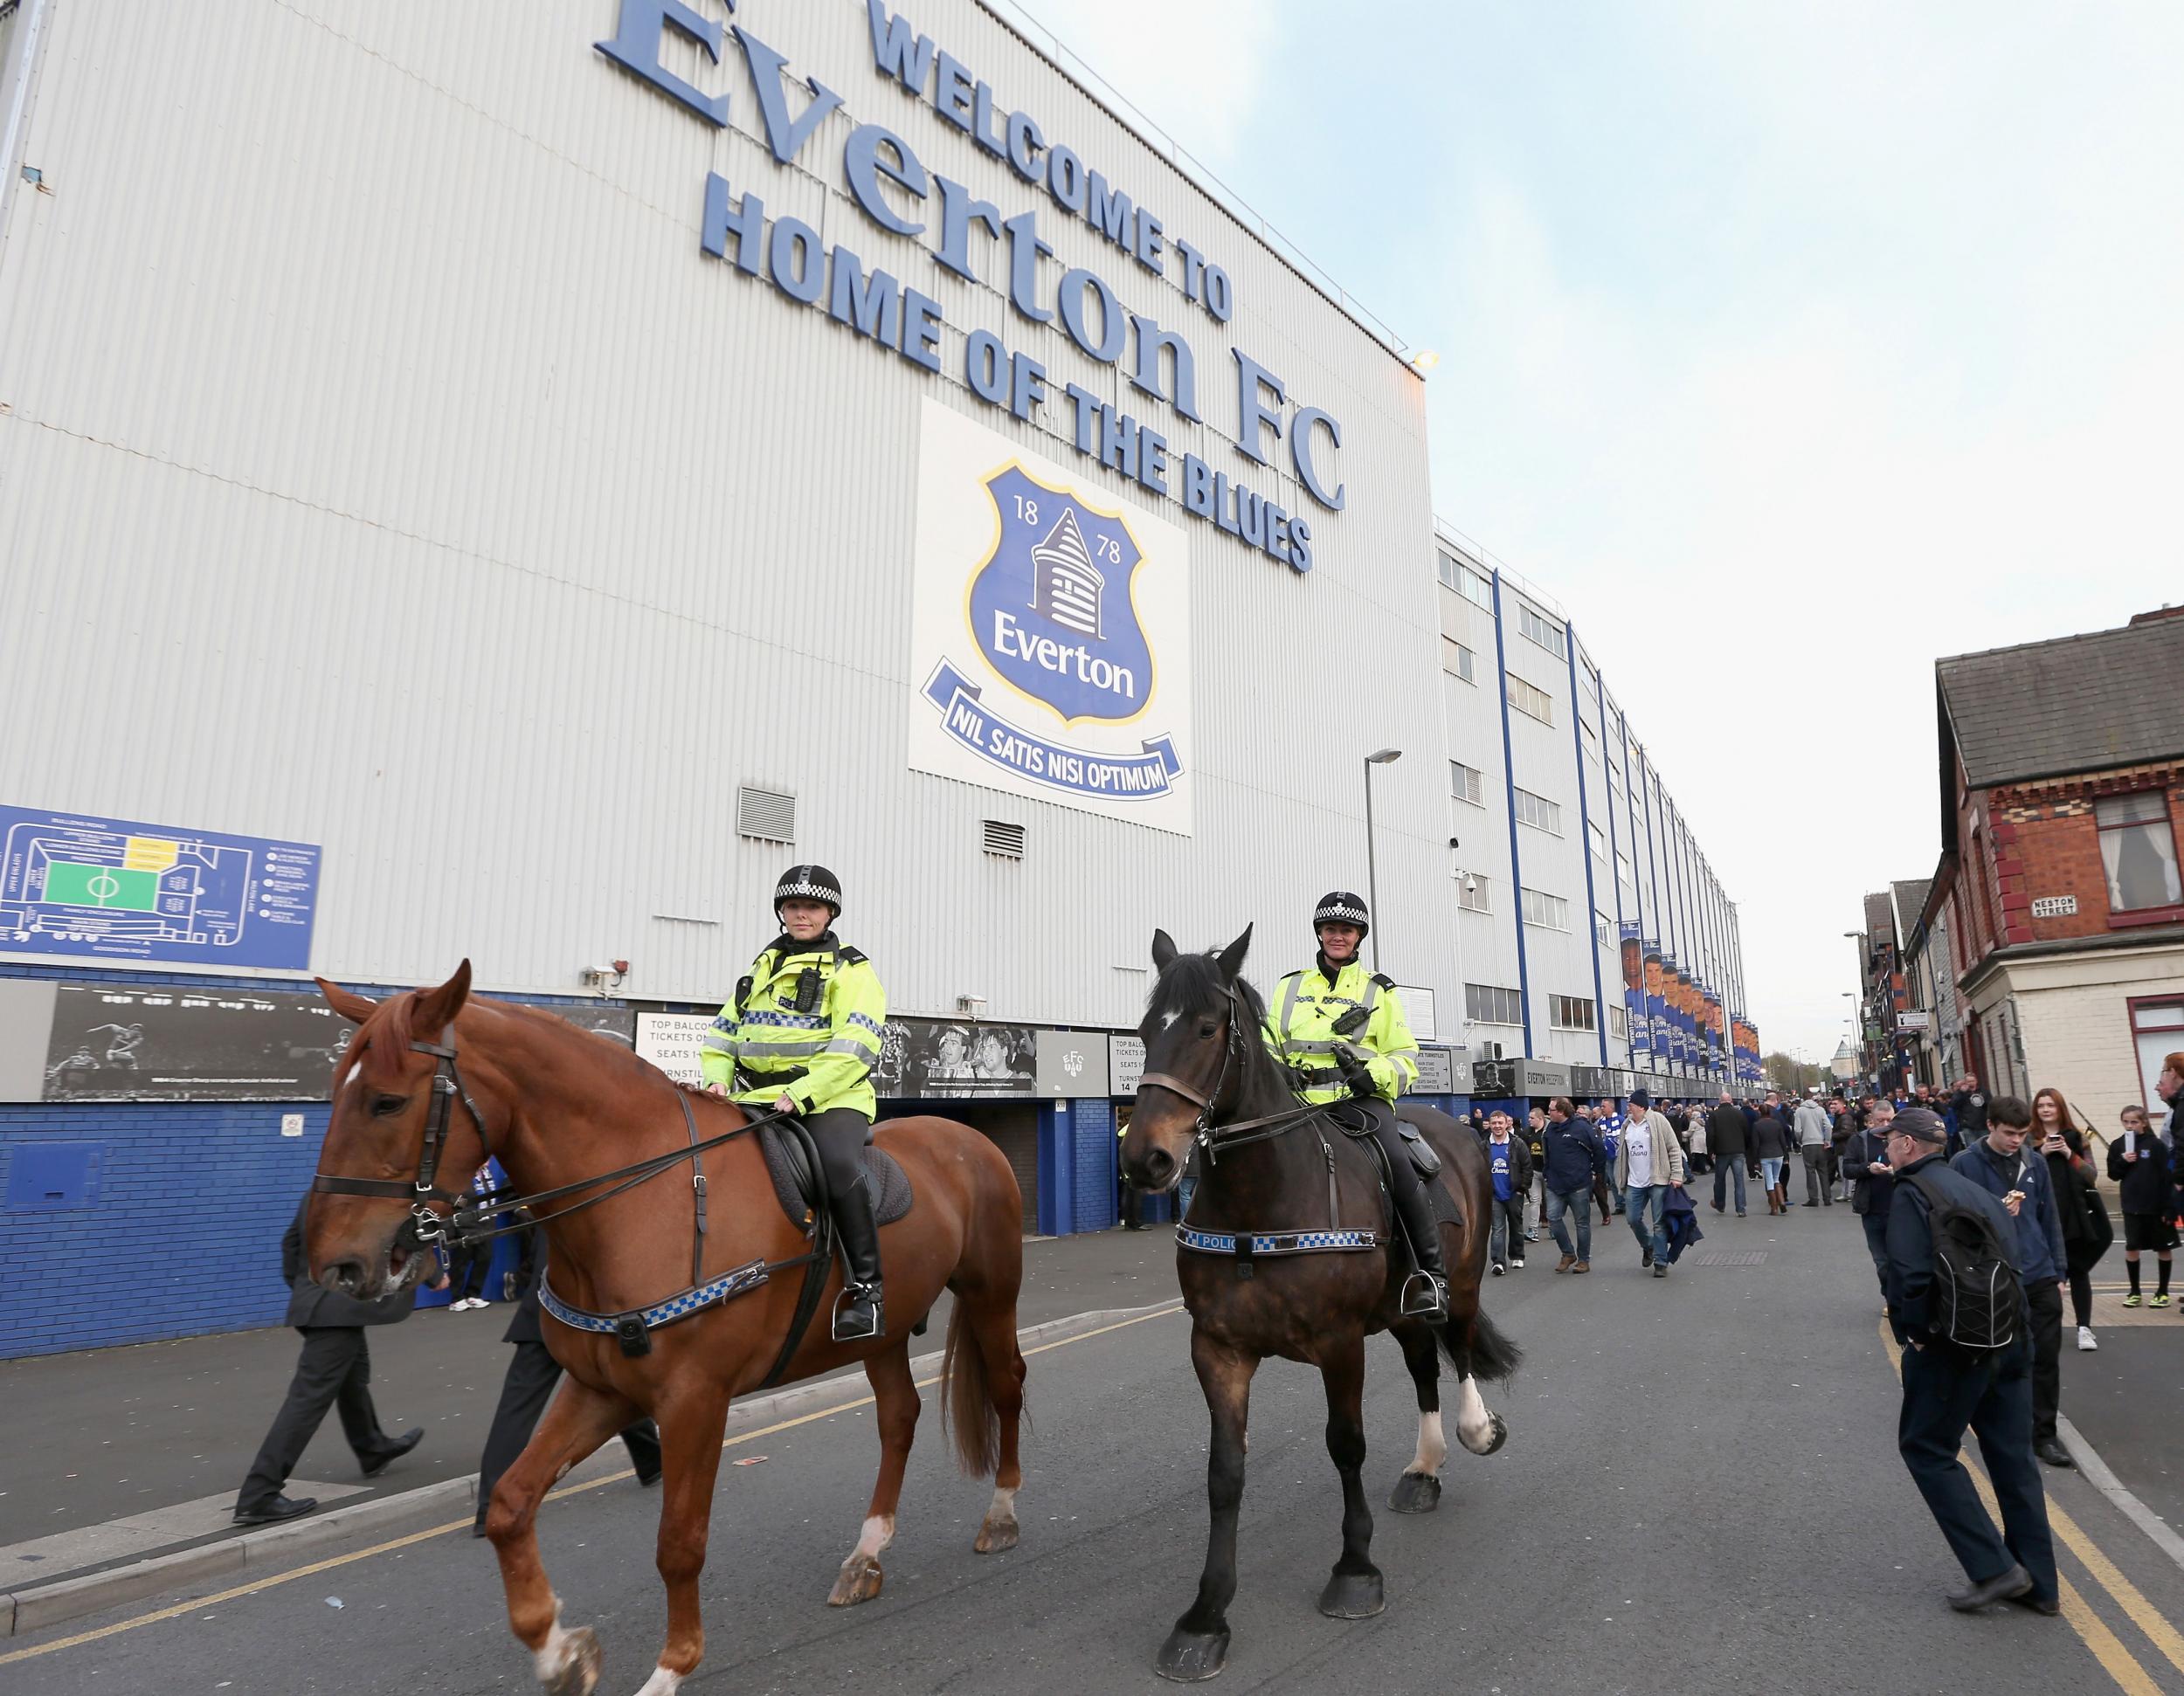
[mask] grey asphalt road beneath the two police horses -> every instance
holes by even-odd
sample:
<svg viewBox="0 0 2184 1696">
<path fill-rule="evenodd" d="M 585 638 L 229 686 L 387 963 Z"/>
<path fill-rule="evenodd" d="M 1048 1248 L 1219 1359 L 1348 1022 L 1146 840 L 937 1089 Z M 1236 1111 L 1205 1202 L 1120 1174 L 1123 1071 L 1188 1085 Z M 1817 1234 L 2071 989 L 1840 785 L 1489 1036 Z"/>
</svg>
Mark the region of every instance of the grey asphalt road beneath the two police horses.
<svg viewBox="0 0 2184 1696">
<path fill-rule="evenodd" d="M 2068 1617 L 1950 1613 L 1942 1591 L 1959 1574 L 1896 1456 L 1894 1369 L 1856 1225 L 1839 1209 L 1701 1218 L 1697 1253 L 1765 1259 L 1651 1279 L 1618 1225 L 1590 1277 L 1557 1277 L 1535 1253 L 1489 1286 L 1531 1355 L 1489 1395 L 1509 1443 L 1452 1452 L 1439 1513 L 1376 1515 L 1378 1620 L 1313 1609 L 1339 1543 L 1324 1404 L 1315 1375 L 1269 1362 L 1223 1685 L 2184 1692 L 2184 1639 L 2167 1624 L 2184 1617 L 2184 1572 L 2075 1473 L 2051 1476 L 2075 1534 Z M 852 1611 L 823 1598 L 871 1484 L 869 1408 L 738 1441 L 729 1460 L 762 1462 L 721 1473 L 710 1650 L 686 1694 L 1160 1689 L 1151 1659 L 1190 1598 L 1206 1530 L 1186 1331 L 1188 1318 L 1155 1316 L 1031 1360 L 1024 1541 L 1009 1554 L 972 1554 L 987 1491 L 950 1471 L 928 1408 L 887 1589 Z M 1367 1434 L 1385 1502 L 1415 1436 L 1385 1340 Z M 605 1484 L 544 1519 L 566 1620 L 605 1644 L 607 1692 L 636 1689 L 657 1650 L 655 1502 Z M 487 1548 L 452 1532 L 7 1650 L 9 1696 L 535 1689 Z"/>
</svg>

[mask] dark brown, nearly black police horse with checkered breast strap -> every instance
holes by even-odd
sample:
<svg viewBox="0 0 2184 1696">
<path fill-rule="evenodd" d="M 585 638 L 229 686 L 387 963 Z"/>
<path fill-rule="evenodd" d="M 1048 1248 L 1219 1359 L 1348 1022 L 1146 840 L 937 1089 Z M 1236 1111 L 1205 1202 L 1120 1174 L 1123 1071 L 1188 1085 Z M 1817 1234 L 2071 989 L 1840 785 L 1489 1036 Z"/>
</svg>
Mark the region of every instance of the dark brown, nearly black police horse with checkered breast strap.
<svg viewBox="0 0 2184 1696">
<path fill-rule="evenodd" d="M 1227 1663 L 1227 1604 L 1236 1596 L 1236 1510 L 1243 1502 L 1251 1375 L 1267 1355 L 1319 1366 L 1328 1390 L 1328 1454 L 1343 1480 L 1343 1552 L 1319 1611 L 1361 1620 L 1385 1607 L 1372 1563 L 1365 1506 L 1365 1338 L 1391 1331 L 1417 1384 L 1417 1454 L 1396 1482 L 1398 1513 L 1431 1513 L 1441 1500 L 1439 1355 L 1457 1373 L 1457 1436 L 1494 1454 L 1507 1430 L 1487 1412 L 1479 1380 L 1503 1380 L 1518 1349 L 1479 1310 L 1487 1257 L 1487 1179 L 1479 1139 L 1446 1113 L 1404 1107 L 1441 1157 L 1461 1225 L 1441 1225 L 1448 1257 L 1448 1323 L 1402 1318 L 1406 1270 L 1400 1246 L 1382 1246 L 1391 1218 L 1380 1172 L 1361 1142 L 1306 1109 L 1289 1072 L 1267 1052 L 1265 1002 L 1238 971 L 1249 928 L 1219 954 L 1177 954 L 1153 932 L 1160 971 L 1147 1002 L 1144 1083 L 1123 1139 L 1123 1172 L 1144 1190 L 1173 1187 L 1192 1142 L 1199 1183 L 1188 1229 L 1212 1251 L 1179 1242 L 1177 1275 L 1190 1310 L 1190 1364 L 1212 1412 L 1206 1495 L 1212 1530 L 1199 1596 L 1160 1648 L 1166 1679 L 1212 1679 Z M 1223 1128 L 1232 1126 L 1227 1146 Z M 1361 1235 L 1372 1246 L 1356 1246 Z M 1269 1240 L 1271 1238 L 1271 1240 Z M 1334 1240 L 1343 1246 L 1324 1246 Z M 1225 1244 L 1225 1246 L 1223 1246 Z M 1241 1249 L 1254 1253 L 1238 1253 Z"/>
</svg>

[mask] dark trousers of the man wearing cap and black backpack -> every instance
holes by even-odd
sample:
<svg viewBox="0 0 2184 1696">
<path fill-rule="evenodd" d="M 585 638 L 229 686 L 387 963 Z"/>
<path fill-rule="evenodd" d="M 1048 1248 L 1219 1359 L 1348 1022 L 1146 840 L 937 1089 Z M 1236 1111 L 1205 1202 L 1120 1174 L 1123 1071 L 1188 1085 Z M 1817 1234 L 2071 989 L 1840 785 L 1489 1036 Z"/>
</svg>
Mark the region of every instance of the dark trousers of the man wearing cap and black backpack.
<svg viewBox="0 0 2184 1696">
<path fill-rule="evenodd" d="M 2033 1591 L 2053 1598 L 2055 1543 L 2049 1537 L 2040 1462 L 2033 1460 L 2033 1345 L 2020 1336 L 1994 1355 L 1970 1355 L 1946 1345 L 1904 1349 L 1904 1406 L 1896 1447 L 1911 1480 L 1942 1526 L 1963 1576 L 1974 1585 L 1998 1578 L 2011 1563 L 2033 1576 Z M 1972 1489 L 1957 1460 L 1970 1428 L 1987 1462 L 2003 1530 Z"/>
</svg>

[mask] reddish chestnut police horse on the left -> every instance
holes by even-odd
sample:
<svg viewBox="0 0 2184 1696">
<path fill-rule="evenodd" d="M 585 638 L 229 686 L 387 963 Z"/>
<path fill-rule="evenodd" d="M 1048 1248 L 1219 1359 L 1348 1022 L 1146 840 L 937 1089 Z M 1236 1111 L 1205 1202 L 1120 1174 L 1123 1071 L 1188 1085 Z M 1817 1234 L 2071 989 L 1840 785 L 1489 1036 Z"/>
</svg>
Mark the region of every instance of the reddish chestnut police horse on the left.
<svg viewBox="0 0 2184 1696">
<path fill-rule="evenodd" d="M 358 1026 L 336 1063 L 321 1174 L 363 1181 L 365 1190 L 408 1187 L 428 1139 L 443 1135 L 439 1166 L 448 1174 L 470 1174 L 491 1152 L 518 1190 L 579 1185 L 537 1214 L 555 1297 L 592 1314 L 640 1310 L 695 1281 L 701 1196 L 710 1196 L 705 1279 L 802 1253 L 804 1238 L 773 1198 L 756 1135 L 701 1155 L 703 1187 L 684 1159 L 594 1207 L 555 1218 L 557 1209 L 605 1192 L 605 1185 L 583 1187 L 585 1179 L 732 1131 L 745 1122 L 743 1109 L 684 1089 L 627 1048 L 548 1013 L 470 995 L 470 960 L 437 989 L 387 1002 L 325 980 L 319 989 Z M 943 1288 L 954 1292 L 939 1390 L 943 1428 L 952 1423 L 963 1471 L 994 1478 L 974 1548 L 981 1554 L 1013 1548 L 1018 1534 L 1024 1358 L 1016 1347 L 1016 1294 L 1024 1251 L 1016 1177 L 992 1142 L 952 1120 L 885 1122 L 876 1142 L 895 1157 L 915 1194 L 911 1211 L 880 1231 L 889 1329 L 852 1345 L 830 1338 L 826 1314 L 841 1288 L 836 1264 L 819 1321 L 782 1375 L 793 1382 L 863 1360 L 871 1380 L 880 1478 L 828 1598 L 836 1607 L 880 1593 L 880 1552 L 895 1534 L 919 1412 L 909 1331 Z M 461 1177 L 454 1187 L 463 1187 Z M 417 1246 L 411 1201 L 391 1194 L 314 1194 L 306 1249 L 314 1279 L 367 1301 L 415 1281 L 428 1259 Z M 640 1414 L 660 1423 L 657 1563 L 668 1596 L 666 1641 L 640 1696 L 673 1696 L 705 1652 L 697 1582 L 727 1404 L 758 1388 L 784 1347 L 799 1273 L 651 1329 L 651 1351 L 638 1355 L 625 1355 L 612 1334 L 542 1316 L 546 1347 L 568 1382 L 494 1491 L 485 1532 L 500 1556 L 509 1626 L 553 1696 L 590 1696 L 601 1652 L 590 1626 L 561 1624 L 561 1600 L 539 1563 L 537 1506 L 570 1467 Z"/>
</svg>

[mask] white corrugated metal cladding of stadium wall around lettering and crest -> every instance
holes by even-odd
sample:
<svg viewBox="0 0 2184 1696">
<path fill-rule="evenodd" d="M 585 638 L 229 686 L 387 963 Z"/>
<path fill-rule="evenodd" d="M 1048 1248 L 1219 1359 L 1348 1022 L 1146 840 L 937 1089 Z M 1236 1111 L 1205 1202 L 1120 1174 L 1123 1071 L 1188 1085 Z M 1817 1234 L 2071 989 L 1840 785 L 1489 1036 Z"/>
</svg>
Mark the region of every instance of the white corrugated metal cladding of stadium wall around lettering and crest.
<svg viewBox="0 0 2184 1696">
<path fill-rule="evenodd" d="M 719 0 L 690 0 L 727 24 Z M 863 0 L 734 24 L 843 96 L 793 164 L 734 35 L 660 61 L 714 129 L 614 65 L 618 0 L 50 0 L 0 229 L 0 799 L 321 843 L 314 967 L 721 998 L 788 858 L 847 884 L 843 934 L 904 1011 L 1131 1024 L 1153 925 L 1260 923 L 1258 976 L 1363 886 L 1374 773 L 1382 965 L 1461 1008 L 1417 375 L 1214 199 L 970 0 L 909 15 L 1234 279 L 1184 299 L 874 68 Z M 854 124 L 1037 212 L 1053 255 L 1179 330 L 1203 423 L 1136 393 L 847 192 Z M 701 251 L 708 172 L 930 295 L 941 371 Z M 909 201 L 898 190 L 898 205 Z M 974 397 L 965 336 L 1035 356 L 1029 426 Z M 1289 384 L 1271 467 L 1238 456 L 1243 349 Z M 1293 572 L 1072 447 L 1077 382 L 1313 524 Z M 913 773 L 919 408 L 941 397 L 1188 530 L 1195 742 L 1179 836 Z M 1297 406 L 1326 511 L 1291 471 Z M 1254 432 L 1256 434 L 1256 432 Z M 1269 437 L 1271 441 L 1271 437 Z M 1328 666 L 1352 681 L 1328 688 Z M 797 797 L 795 847 L 736 790 Z M 1022 825 L 1020 860 L 983 823 Z M 1120 969 L 1118 969 L 1120 967 Z"/>
</svg>

